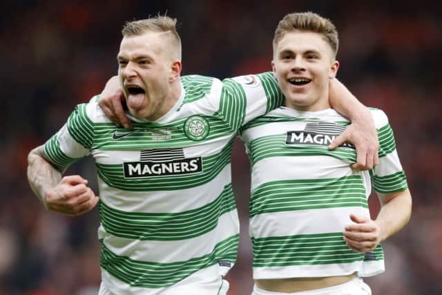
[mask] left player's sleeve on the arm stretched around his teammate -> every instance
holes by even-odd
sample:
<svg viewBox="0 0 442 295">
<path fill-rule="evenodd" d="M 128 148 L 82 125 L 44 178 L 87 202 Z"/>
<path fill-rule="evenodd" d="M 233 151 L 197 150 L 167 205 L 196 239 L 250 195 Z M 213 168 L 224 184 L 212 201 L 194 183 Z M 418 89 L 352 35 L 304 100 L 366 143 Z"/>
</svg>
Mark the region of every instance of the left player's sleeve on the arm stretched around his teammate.
<svg viewBox="0 0 442 295">
<path fill-rule="evenodd" d="M 280 106 L 284 96 L 273 73 L 245 75 L 222 81 L 219 113 L 233 130 Z"/>
</svg>

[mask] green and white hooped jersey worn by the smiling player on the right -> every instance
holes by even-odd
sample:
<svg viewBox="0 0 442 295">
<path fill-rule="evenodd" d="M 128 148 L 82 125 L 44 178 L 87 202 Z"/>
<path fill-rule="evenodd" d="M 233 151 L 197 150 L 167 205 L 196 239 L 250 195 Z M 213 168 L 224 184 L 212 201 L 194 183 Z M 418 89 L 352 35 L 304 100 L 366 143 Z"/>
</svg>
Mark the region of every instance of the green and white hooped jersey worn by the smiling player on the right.
<svg viewBox="0 0 442 295">
<path fill-rule="evenodd" d="M 387 116 L 371 109 L 379 164 L 355 171 L 356 151 L 327 146 L 349 122 L 332 109 L 301 112 L 280 107 L 249 122 L 242 140 L 252 166 L 250 236 L 253 278 L 340 276 L 384 271 L 381 245 L 359 254 L 343 240 L 351 213 L 369 216 L 371 183 L 379 193 L 407 188 Z M 371 177 L 370 177 L 371 176 Z"/>
</svg>

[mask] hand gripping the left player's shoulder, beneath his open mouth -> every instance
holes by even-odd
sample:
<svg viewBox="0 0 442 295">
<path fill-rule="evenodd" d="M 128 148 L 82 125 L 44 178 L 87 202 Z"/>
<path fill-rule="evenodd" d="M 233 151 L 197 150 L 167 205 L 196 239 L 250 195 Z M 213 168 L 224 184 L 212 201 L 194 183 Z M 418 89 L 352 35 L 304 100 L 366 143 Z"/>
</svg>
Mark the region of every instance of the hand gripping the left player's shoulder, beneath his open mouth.
<svg viewBox="0 0 442 295">
<path fill-rule="evenodd" d="M 123 125 L 126 129 L 132 129 L 132 122 L 128 119 L 123 110 L 125 101 L 122 88 L 119 86 L 118 76 L 114 76 L 106 83 L 102 94 L 99 96 L 99 106 L 104 111 L 106 117 L 115 125 Z"/>
</svg>

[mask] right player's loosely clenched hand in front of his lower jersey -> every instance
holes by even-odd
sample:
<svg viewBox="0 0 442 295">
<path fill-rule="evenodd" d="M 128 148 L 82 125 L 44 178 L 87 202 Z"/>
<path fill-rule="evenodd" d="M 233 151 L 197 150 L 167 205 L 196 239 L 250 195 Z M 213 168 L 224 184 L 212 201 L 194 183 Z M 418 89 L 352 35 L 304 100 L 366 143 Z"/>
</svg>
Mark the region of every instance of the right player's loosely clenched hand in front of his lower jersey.
<svg viewBox="0 0 442 295">
<path fill-rule="evenodd" d="M 347 225 L 344 240 L 350 249 L 357 252 L 371 252 L 381 242 L 381 227 L 365 216 L 350 215 L 356 224 Z"/>
</svg>

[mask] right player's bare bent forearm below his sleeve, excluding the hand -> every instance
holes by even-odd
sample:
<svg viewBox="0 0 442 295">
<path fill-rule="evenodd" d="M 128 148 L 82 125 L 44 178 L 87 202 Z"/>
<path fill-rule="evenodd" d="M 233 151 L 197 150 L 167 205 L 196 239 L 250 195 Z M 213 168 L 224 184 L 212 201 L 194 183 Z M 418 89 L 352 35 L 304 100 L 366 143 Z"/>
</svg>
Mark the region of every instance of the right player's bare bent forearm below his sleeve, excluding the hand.
<svg viewBox="0 0 442 295">
<path fill-rule="evenodd" d="M 380 196 L 382 202 L 382 196 Z M 384 197 L 385 198 L 385 197 Z M 375 222 L 381 228 L 381 241 L 386 240 L 400 231 L 410 220 L 412 212 L 412 198 L 406 189 L 390 196 L 390 200 L 382 204 L 381 211 Z"/>
</svg>

